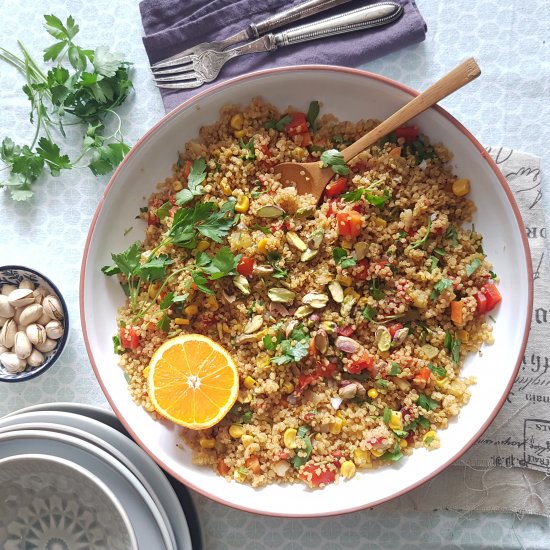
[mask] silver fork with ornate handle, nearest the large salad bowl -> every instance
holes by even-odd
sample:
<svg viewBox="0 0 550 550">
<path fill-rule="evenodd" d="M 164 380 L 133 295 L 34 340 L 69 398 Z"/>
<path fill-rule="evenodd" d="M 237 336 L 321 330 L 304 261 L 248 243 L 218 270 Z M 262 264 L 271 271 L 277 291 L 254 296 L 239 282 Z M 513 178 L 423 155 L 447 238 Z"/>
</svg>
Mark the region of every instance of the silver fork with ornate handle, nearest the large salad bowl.
<svg viewBox="0 0 550 550">
<path fill-rule="evenodd" d="M 187 60 L 177 62 L 177 67 L 153 69 L 154 80 L 159 88 L 198 88 L 205 82 L 212 82 L 217 78 L 225 63 L 235 57 L 274 51 L 279 47 L 299 42 L 387 25 L 399 19 L 402 14 L 403 7 L 396 2 L 372 4 L 277 34 L 270 33 L 230 50 L 222 52 L 207 50 L 198 55 L 186 56 Z M 170 76 L 159 77 L 158 75 Z"/>
</svg>

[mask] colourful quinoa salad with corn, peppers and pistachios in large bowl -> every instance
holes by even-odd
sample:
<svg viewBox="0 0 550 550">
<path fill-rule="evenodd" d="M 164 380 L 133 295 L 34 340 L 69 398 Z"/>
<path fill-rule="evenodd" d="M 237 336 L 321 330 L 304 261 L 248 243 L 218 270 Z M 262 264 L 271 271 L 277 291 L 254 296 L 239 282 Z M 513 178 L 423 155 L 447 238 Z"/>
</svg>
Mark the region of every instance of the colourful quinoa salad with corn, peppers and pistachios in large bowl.
<svg viewBox="0 0 550 550">
<path fill-rule="evenodd" d="M 128 296 L 113 341 L 151 414 L 148 365 L 167 339 L 231 354 L 237 401 L 182 437 L 194 463 L 254 487 L 322 488 L 437 449 L 501 301 L 471 223 L 476 182 L 451 153 L 408 126 L 345 164 L 377 122 L 322 111 L 225 106 L 141 209 L 143 241 L 103 268 Z M 273 170 L 315 160 L 335 173 L 319 205 Z"/>
</svg>

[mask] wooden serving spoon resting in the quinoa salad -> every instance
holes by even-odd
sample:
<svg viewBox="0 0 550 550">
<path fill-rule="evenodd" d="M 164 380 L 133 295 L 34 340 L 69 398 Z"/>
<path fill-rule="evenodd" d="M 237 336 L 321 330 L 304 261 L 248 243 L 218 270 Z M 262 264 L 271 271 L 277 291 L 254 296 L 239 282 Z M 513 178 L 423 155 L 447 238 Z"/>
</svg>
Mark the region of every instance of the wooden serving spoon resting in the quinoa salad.
<svg viewBox="0 0 550 550">
<path fill-rule="evenodd" d="M 361 151 L 387 136 L 397 128 L 403 126 L 411 118 L 424 112 L 438 101 L 452 94 L 462 86 L 465 86 L 481 74 L 475 59 L 471 57 L 458 67 L 446 74 L 443 78 L 432 84 L 427 90 L 413 98 L 399 111 L 391 115 L 384 122 L 368 134 L 359 138 L 355 143 L 342 151 L 344 161 L 348 163 Z M 322 168 L 320 161 L 315 162 L 283 162 L 274 167 L 275 173 L 281 174 L 283 183 L 293 183 L 298 193 L 313 195 L 317 201 L 321 199 L 325 187 L 335 176 L 332 168 Z"/>
</svg>

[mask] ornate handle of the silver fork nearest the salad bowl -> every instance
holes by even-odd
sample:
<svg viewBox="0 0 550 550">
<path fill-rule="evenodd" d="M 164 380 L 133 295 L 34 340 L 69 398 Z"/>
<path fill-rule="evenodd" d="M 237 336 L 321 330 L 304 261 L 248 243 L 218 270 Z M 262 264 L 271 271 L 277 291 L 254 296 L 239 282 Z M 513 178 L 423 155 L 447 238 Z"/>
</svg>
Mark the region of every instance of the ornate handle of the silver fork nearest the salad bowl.
<svg viewBox="0 0 550 550">
<path fill-rule="evenodd" d="M 290 46 L 299 42 L 334 36 L 393 23 L 403 14 L 403 6 L 396 2 L 379 2 L 340 15 L 327 17 L 315 23 L 300 25 L 274 35 L 275 45 Z"/>
</svg>

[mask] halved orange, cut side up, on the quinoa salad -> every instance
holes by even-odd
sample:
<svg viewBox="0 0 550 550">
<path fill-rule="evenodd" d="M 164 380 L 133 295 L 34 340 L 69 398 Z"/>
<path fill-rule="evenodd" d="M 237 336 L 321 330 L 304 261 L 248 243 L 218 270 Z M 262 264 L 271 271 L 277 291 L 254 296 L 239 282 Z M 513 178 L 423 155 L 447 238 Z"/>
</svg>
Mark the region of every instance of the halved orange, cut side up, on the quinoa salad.
<svg viewBox="0 0 550 550">
<path fill-rule="evenodd" d="M 239 374 L 222 346 L 201 334 L 184 334 L 154 353 L 147 387 L 159 414 L 203 430 L 217 424 L 235 403 Z"/>
</svg>

